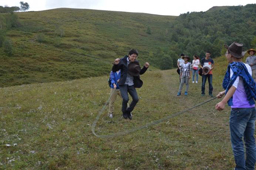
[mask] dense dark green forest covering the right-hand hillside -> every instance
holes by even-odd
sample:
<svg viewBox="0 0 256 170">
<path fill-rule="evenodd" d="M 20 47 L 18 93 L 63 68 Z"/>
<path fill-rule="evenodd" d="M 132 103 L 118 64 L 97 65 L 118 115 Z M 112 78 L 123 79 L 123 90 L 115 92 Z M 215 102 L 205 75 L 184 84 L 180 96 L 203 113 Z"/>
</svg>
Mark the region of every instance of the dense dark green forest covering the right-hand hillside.
<svg viewBox="0 0 256 170">
<path fill-rule="evenodd" d="M 219 57 L 223 44 L 238 41 L 244 50 L 256 47 L 256 4 L 212 7 L 206 12 L 181 14 L 170 24 L 168 40 L 171 50 L 200 57 L 209 50 Z M 224 50 L 225 51 L 225 50 Z"/>
</svg>

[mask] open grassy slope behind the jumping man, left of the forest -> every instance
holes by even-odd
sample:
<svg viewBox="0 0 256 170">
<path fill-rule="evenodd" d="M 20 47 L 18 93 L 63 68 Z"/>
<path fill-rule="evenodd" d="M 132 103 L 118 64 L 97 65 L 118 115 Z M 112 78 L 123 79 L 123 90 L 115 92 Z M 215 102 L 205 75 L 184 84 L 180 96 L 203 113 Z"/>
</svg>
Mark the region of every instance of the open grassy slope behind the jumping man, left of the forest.
<svg viewBox="0 0 256 170">
<path fill-rule="evenodd" d="M 107 75 L 111 62 L 132 48 L 139 60 L 151 61 L 149 52 L 168 48 L 159 34 L 175 18 L 70 8 L 17 15 L 21 26 L 7 31 L 13 55 L 0 48 L 0 87 Z"/>
</svg>

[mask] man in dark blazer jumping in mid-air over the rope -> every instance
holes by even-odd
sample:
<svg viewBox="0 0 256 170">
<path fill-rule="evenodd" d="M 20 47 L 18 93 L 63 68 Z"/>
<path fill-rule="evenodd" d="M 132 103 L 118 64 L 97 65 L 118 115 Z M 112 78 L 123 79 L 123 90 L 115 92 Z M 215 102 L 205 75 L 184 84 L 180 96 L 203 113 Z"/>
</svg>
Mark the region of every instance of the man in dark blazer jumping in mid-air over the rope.
<svg viewBox="0 0 256 170">
<path fill-rule="evenodd" d="M 116 72 L 121 69 L 121 77 L 119 79 L 119 89 L 123 98 L 122 112 L 125 119 L 132 119 L 131 112 L 135 105 L 139 101 L 135 88 L 140 88 L 143 84 L 139 75 L 144 74 L 149 67 L 149 63 L 145 62 L 144 67 L 141 69 L 139 61 L 137 61 L 138 51 L 132 49 L 129 55 L 125 55 L 124 58 L 115 59 L 115 63 L 112 67 L 112 71 Z M 132 96 L 132 102 L 127 108 L 129 101 L 128 93 Z"/>
</svg>

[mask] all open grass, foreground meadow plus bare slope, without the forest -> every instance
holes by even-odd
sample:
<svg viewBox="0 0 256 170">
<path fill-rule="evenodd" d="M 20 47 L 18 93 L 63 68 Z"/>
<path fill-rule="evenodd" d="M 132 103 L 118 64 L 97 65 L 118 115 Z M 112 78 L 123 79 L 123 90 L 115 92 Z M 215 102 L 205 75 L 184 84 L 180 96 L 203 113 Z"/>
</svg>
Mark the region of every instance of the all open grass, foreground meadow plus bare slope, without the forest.
<svg viewBox="0 0 256 170">
<path fill-rule="evenodd" d="M 0 169 L 233 169 L 230 108 L 216 111 L 220 99 L 127 135 L 102 139 L 91 132 L 110 95 L 111 62 L 131 48 L 141 65 L 151 64 L 133 118 L 122 118 L 118 98 L 114 118 L 104 110 L 97 134 L 138 128 L 210 99 L 201 97 L 200 76 L 198 84 L 190 80 L 188 96 L 185 86 L 176 96 L 176 69 L 155 67 L 158 47 L 176 48 L 159 38 L 175 16 L 69 8 L 17 15 L 21 27 L 7 32 L 13 56 L 0 48 Z M 214 61 L 216 95 L 227 61 Z"/>
</svg>

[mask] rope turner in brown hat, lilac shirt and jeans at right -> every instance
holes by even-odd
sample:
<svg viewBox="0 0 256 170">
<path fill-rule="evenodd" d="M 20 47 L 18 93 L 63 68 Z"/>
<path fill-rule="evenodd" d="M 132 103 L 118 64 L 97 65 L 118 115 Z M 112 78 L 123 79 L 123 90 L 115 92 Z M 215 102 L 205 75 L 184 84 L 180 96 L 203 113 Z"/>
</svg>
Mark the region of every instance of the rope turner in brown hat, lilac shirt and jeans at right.
<svg viewBox="0 0 256 170">
<path fill-rule="evenodd" d="M 235 170 L 254 170 L 256 161 L 255 131 L 255 99 L 256 84 L 252 78 L 249 64 L 242 62 L 243 44 L 233 42 L 227 48 L 226 58 L 229 62 L 222 86 L 225 91 L 216 97 L 225 97 L 215 106 L 216 110 L 223 110 L 225 104 L 231 106 L 229 118 L 230 138 L 235 157 Z M 246 159 L 244 144 L 246 147 Z"/>
</svg>

